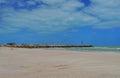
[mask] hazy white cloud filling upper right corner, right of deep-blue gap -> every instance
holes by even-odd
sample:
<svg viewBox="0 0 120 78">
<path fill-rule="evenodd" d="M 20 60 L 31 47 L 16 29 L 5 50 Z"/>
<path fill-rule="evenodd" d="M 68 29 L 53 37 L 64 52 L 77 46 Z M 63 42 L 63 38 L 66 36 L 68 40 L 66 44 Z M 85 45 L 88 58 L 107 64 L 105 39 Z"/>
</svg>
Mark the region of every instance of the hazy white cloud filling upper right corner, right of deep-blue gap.
<svg viewBox="0 0 120 78">
<path fill-rule="evenodd" d="M 112 28 L 120 27 L 120 0 L 91 0 L 90 7 L 85 12 L 99 17 L 102 21 L 94 27 Z"/>
</svg>

